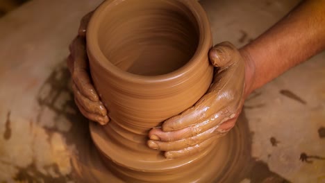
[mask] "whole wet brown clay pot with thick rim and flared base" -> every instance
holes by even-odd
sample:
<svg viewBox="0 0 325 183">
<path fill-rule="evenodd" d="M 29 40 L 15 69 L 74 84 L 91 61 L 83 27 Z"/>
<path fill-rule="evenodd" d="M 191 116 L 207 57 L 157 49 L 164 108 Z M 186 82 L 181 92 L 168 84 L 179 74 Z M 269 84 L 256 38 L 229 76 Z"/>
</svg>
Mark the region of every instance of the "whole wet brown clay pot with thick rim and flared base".
<svg viewBox="0 0 325 183">
<path fill-rule="evenodd" d="M 151 128 L 196 103 L 210 86 L 212 37 L 196 0 L 108 0 L 88 25 L 94 86 L 110 122 L 90 123 L 107 168 L 127 182 L 208 182 L 215 146 L 178 159 L 147 147 Z M 217 143 L 217 142 L 216 142 Z"/>
</svg>

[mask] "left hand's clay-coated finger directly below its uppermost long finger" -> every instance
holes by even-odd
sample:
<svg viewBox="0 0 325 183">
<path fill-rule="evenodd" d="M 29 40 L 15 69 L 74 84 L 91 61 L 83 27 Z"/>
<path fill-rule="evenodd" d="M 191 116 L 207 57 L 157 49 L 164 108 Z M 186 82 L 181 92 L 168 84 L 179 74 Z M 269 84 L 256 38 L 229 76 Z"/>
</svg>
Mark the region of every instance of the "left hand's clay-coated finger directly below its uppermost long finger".
<svg viewBox="0 0 325 183">
<path fill-rule="evenodd" d="M 103 106 L 103 103 L 101 103 L 101 101 L 93 102 L 93 101 L 90 101 L 88 98 L 85 98 L 85 96 L 83 96 L 79 92 L 79 90 L 76 87 L 76 84 L 74 84 L 74 82 L 72 83 L 72 89 L 74 91 L 74 94 L 75 94 L 76 99 L 78 100 L 79 104 L 83 105 L 83 108 L 86 111 L 88 111 L 90 113 L 94 113 L 94 114 L 99 114 L 101 116 L 107 115 L 107 110 Z"/>
</svg>

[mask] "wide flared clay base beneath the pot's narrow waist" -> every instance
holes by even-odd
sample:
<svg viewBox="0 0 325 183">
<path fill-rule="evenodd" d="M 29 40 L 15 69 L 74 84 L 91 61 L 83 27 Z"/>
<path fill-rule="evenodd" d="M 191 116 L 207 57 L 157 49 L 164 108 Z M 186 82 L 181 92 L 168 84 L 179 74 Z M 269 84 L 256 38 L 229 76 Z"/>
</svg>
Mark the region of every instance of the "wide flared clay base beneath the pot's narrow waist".
<svg viewBox="0 0 325 183">
<path fill-rule="evenodd" d="M 207 182 L 215 175 L 213 171 L 206 171 L 206 166 L 213 163 L 210 161 L 217 152 L 210 151 L 216 146 L 210 146 L 196 155 L 166 159 L 160 151 L 147 148 L 145 139 L 142 143 L 128 140 L 121 143 L 123 137 L 113 130 L 108 130 L 110 135 L 105 131 L 100 125 L 90 124 L 92 139 L 103 162 L 110 171 L 126 182 L 180 182 L 184 177 L 190 182 Z M 133 137 L 137 136 L 134 134 Z"/>
</svg>

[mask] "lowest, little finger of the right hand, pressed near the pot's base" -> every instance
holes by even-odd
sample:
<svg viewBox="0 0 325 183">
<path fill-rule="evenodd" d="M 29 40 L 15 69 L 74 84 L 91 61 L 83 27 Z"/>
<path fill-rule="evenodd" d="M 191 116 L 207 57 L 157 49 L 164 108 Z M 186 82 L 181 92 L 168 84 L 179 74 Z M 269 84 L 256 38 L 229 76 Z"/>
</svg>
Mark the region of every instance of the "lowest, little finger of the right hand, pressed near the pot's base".
<svg viewBox="0 0 325 183">
<path fill-rule="evenodd" d="M 196 153 L 199 153 L 203 150 L 206 150 L 217 138 L 211 138 L 206 141 L 203 141 L 202 143 L 199 143 L 195 146 L 191 146 L 188 148 L 184 148 L 182 150 L 172 150 L 165 152 L 165 157 L 167 159 L 173 159 L 177 157 L 184 157 L 188 155 L 194 155 Z"/>
</svg>

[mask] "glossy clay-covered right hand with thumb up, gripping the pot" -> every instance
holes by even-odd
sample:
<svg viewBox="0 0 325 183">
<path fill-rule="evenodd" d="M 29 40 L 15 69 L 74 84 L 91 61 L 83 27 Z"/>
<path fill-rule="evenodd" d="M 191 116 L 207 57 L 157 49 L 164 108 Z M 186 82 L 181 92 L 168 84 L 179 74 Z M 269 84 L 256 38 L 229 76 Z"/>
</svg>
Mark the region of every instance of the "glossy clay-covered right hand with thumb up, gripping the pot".
<svg viewBox="0 0 325 183">
<path fill-rule="evenodd" d="M 244 103 L 245 63 L 229 42 L 210 50 L 216 67 L 208 92 L 188 110 L 167 119 L 161 128 L 149 132 L 148 146 L 176 158 L 205 150 L 235 125 Z"/>
</svg>

